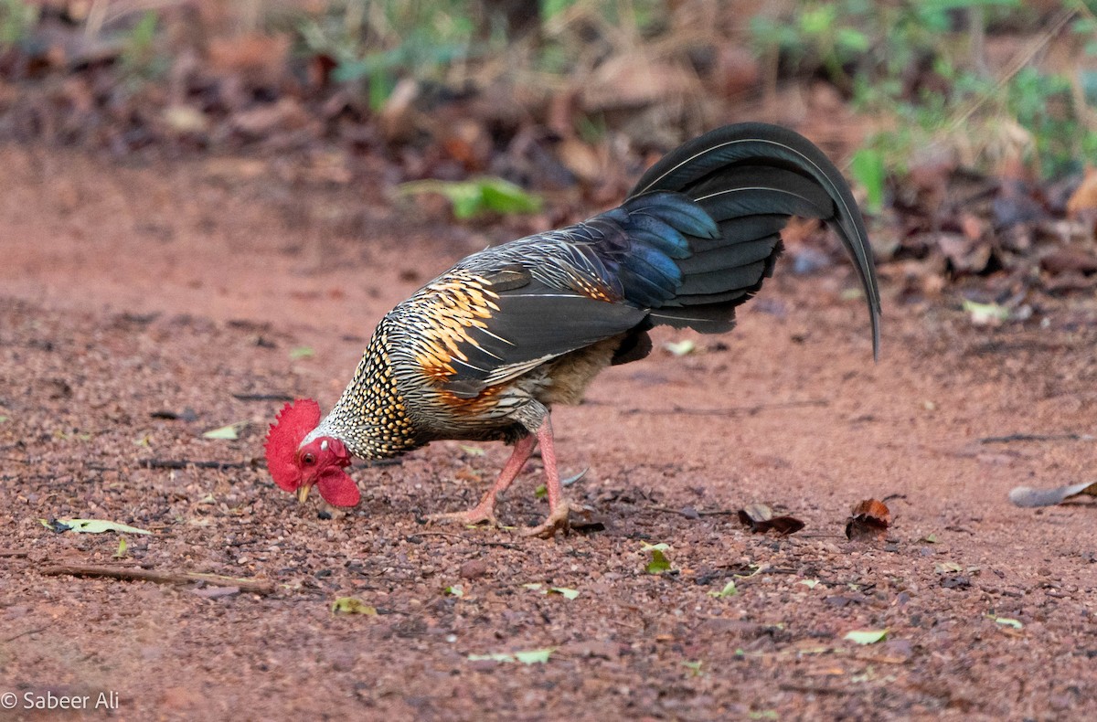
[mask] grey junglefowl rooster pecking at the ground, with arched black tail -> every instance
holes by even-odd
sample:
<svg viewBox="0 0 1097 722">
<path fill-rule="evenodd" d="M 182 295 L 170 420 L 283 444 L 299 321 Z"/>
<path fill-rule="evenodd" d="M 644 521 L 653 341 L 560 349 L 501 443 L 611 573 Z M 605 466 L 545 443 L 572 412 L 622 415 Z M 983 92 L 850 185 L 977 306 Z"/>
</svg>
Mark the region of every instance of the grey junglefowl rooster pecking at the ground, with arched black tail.
<svg viewBox="0 0 1097 722">
<path fill-rule="evenodd" d="M 377 325 L 354 377 L 320 418 L 286 404 L 267 437 L 275 483 L 302 501 L 359 501 L 351 456 L 398 456 L 439 439 L 513 445 L 479 504 L 436 518 L 495 523 L 496 495 L 541 444 L 548 516 L 529 534 L 567 527 L 550 414 L 577 404 L 611 364 L 644 358 L 654 326 L 719 334 L 772 274 L 789 216 L 837 232 L 864 289 L 873 357 L 880 293 L 849 187 L 803 136 L 728 125 L 655 163 L 624 202 L 589 221 L 459 261 Z"/>
</svg>

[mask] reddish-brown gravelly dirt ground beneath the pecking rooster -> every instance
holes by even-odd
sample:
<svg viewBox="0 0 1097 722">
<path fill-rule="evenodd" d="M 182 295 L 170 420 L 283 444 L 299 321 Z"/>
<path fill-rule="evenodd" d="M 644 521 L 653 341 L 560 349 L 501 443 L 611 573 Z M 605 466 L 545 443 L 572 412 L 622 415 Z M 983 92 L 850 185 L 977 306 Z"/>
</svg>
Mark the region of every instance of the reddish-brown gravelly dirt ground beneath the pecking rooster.
<svg viewBox="0 0 1097 722">
<path fill-rule="evenodd" d="M 358 464 L 361 505 L 325 518 L 253 463 L 279 397 L 329 407 L 377 319 L 506 228 L 442 224 L 276 159 L 120 167 L 9 147 L 0 163 L 0 693 L 18 696 L 0 718 L 54 719 L 26 701 L 101 692 L 115 709 L 69 714 L 1097 714 L 1097 510 L 1008 500 L 1093 478 L 1093 298 L 1036 298 L 1029 321 L 980 327 L 948 297 L 900 298 L 883 269 L 873 364 L 851 271 L 779 267 L 733 334 L 612 369 L 555 413 L 564 472 L 589 467 L 569 494 L 604 529 L 543 541 L 425 522 L 471 506 L 507 455 L 455 442 Z M 202 438 L 240 421 L 238 440 Z M 988 440 L 1009 435 L 1051 438 Z M 229 466 L 147 467 L 165 461 Z M 544 515 L 535 466 L 505 521 Z M 868 498 L 893 526 L 848 541 Z M 753 503 L 806 528 L 754 534 L 726 514 Z M 116 534 L 50 518 L 154 533 L 126 534 L 115 561 Z M 645 571 L 645 542 L 669 545 L 670 572 Z M 42 574 L 66 563 L 274 591 Z M 730 580 L 737 595 L 712 594 Z M 377 614 L 333 614 L 344 596 Z M 545 647 L 544 664 L 475 658 Z"/>
</svg>

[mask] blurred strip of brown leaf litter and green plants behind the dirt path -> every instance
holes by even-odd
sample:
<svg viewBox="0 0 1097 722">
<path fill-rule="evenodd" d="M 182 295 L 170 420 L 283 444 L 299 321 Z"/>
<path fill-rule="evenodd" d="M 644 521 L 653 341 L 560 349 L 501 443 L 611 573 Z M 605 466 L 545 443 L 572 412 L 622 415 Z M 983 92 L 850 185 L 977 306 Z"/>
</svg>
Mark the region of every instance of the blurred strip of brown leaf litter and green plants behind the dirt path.
<svg viewBox="0 0 1097 722">
<path fill-rule="evenodd" d="M 462 216 L 500 193 L 507 212 L 533 212 L 524 188 L 574 200 L 564 217 L 615 203 L 692 135 L 765 120 L 846 163 L 883 259 L 1032 275 L 1048 272 L 1042 238 L 1093 250 L 1093 5 L 0 0 L 0 139 L 290 156 L 319 182 L 460 182 Z M 468 185 L 482 176 L 517 188 Z"/>
</svg>

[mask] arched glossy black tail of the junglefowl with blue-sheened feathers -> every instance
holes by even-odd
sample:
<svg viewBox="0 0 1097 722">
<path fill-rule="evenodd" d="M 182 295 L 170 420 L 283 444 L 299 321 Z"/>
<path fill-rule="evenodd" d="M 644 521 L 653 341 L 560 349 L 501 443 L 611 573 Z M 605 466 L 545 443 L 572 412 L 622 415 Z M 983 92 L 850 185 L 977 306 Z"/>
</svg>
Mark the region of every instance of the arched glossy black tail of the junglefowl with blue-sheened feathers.
<svg viewBox="0 0 1097 722">
<path fill-rule="evenodd" d="M 652 307 L 655 323 L 705 332 L 731 328 L 735 306 L 771 275 L 789 216 L 825 221 L 857 268 L 873 356 L 879 352 L 880 292 L 864 222 L 838 169 L 798 133 L 743 123 L 690 140 L 648 169 L 625 203 L 606 215 L 614 214 L 641 256 L 622 279 L 625 295 Z M 672 295 L 664 291 L 668 285 L 677 285 Z"/>
</svg>

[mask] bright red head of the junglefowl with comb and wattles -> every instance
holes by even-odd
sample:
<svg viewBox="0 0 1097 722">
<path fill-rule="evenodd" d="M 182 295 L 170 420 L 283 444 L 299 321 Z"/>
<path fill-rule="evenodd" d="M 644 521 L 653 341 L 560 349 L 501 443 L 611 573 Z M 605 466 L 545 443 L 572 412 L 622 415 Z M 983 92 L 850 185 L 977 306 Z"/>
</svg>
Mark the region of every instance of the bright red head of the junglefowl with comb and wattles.
<svg viewBox="0 0 1097 722">
<path fill-rule="evenodd" d="M 350 466 L 347 445 L 333 437 L 302 443 L 319 422 L 320 406 L 312 398 L 286 404 L 267 432 L 267 469 L 274 483 L 296 494 L 299 501 L 316 486 L 331 506 L 352 507 L 361 495 L 343 471 Z"/>
</svg>

